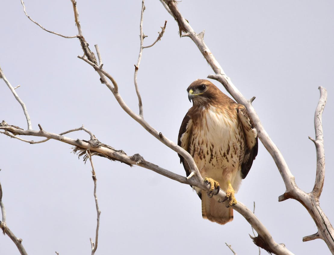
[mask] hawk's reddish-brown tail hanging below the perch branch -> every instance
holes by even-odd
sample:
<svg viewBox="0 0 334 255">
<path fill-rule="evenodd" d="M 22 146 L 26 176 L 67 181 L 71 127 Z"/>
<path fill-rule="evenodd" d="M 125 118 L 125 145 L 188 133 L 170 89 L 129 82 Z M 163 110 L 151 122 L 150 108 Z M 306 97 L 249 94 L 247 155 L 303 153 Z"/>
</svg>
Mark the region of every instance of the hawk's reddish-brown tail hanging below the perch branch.
<svg viewBox="0 0 334 255">
<path fill-rule="evenodd" d="M 202 191 L 202 216 L 203 219 L 224 225 L 233 220 L 233 209 L 226 208 L 224 203 L 219 203 L 215 198 L 209 198 Z"/>
</svg>

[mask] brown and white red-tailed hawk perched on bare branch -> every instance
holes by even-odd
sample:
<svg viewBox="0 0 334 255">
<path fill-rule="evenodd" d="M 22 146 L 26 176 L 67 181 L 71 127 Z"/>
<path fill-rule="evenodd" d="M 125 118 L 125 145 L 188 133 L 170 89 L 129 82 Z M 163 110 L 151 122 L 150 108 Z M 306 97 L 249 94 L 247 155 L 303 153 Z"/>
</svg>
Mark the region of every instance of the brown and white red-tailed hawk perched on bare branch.
<svg viewBox="0 0 334 255">
<path fill-rule="evenodd" d="M 246 108 L 234 102 L 208 80 L 196 80 L 187 89 L 193 106 L 185 115 L 178 145 L 193 157 L 211 190 L 222 188 L 229 206 L 236 204 L 241 180 L 258 154 L 258 133 Z M 179 155 L 180 156 L 180 155 Z M 180 156 L 187 176 L 190 169 Z M 219 224 L 233 220 L 233 210 L 195 187 L 202 200 L 202 216 Z"/>
</svg>

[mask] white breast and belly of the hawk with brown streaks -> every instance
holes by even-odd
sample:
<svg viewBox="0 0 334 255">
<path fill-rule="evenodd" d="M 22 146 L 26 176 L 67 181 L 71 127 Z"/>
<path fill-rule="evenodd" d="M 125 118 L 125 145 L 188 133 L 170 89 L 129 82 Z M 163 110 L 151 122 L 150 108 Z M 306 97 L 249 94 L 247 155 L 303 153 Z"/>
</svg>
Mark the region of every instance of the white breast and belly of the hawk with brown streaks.
<svg viewBox="0 0 334 255">
<path fill-rule="evenodd" d="M 224 190 L 230 181 L 237 190 L 244 154 L 244 135 L 237 113 L 228 115 L 227 111 L 211 107 L 203 114 L 201 123 L 194 125 L 190 154 L 203 178 L 213 178 Z"/>
</svg>

